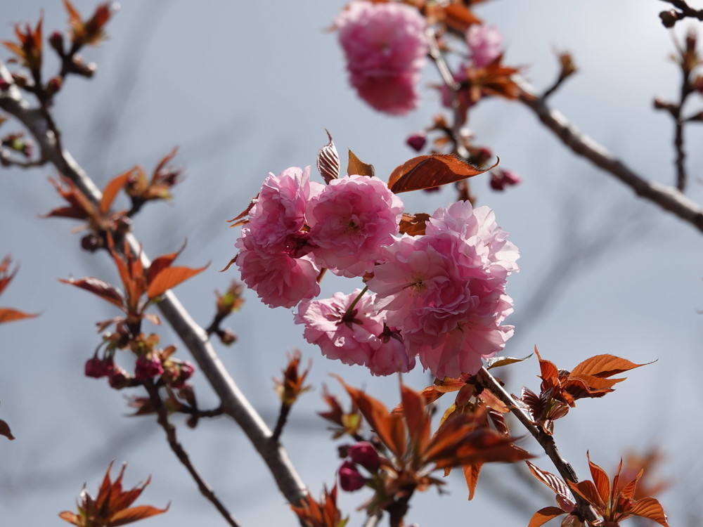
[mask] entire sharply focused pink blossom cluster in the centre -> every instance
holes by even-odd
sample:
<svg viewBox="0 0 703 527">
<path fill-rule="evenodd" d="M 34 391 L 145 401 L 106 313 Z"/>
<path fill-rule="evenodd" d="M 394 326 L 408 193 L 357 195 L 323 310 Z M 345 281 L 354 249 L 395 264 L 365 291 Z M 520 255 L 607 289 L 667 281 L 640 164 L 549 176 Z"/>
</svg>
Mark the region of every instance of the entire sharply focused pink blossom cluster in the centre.
<svg viewBox="0 0 703 527">
<path fill-rule="evenodd" d="M 475 373 L 512 326 L 505 294 L 518 252 L 488 207 L 438 209 L 425 234 L 399 233 L 403 203 L 379 178 L 328 185 L 309 167 L 269 174 L 236 242 L 242 279 L 295 322 L 328 358 L 374 375 L 407 372 L 415 358 L 439 378 Z M 323 269 L 366 287 L 315 299 Z"/>
</svg>

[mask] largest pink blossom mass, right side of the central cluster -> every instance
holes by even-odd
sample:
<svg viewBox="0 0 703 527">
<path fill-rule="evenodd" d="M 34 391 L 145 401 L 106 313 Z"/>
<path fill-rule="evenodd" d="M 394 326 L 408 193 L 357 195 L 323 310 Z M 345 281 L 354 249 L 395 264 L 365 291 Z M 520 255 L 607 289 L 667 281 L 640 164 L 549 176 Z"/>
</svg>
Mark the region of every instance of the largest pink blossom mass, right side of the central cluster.
<svg viewBox="0 0 703 527">
<path fill-rule="evenodd" d="M 505 237 L 490 209 L 458 202 L 438 209 L 425 235 L 386 247 L 375 266 L 375 308 L 435 377 L 477 372 L 512 336 L 501 323 L 512 313 L 505 278 L 518 254 Z"/>
</svg>

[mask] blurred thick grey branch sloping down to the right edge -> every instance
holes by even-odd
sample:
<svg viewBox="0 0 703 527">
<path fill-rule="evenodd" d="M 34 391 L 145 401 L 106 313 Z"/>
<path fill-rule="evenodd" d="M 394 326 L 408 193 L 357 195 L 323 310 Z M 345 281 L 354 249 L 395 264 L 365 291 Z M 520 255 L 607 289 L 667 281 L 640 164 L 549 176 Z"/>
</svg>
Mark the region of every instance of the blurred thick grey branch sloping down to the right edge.
<svg viewBox="0 0 703 527">
<path fill-rule="evenodd" d="M 659 205 L 703 232 L 703 210 L 698 204 L 689 200 L 676 188 L 647 181 L 636 174 L 604 146 L 582 134 L 564 115 L 549 108 L 543 98 L 535 95 L 532 86 L 524 79 L 516 76 L 514 80 L 522 90 L 520 96 L 522 103 L 574 153 L 586 157 L 596 167 L 625 183 L 639 197 Z"/>
</svg>

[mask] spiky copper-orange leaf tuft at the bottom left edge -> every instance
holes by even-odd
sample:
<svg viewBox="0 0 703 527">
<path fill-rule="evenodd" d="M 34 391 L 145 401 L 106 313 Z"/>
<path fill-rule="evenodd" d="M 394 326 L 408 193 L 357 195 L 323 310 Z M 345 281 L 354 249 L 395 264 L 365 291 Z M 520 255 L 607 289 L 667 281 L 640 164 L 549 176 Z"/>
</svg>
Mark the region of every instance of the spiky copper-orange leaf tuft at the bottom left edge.
<svg viewBox="0 0 703 527">
<path fill-rule="evenodd" d="M 141 495 L 151 478 L 130 490 L 122 490 L 122 476 L 126 467 L 127 464 L 123 464 L 117 479 L 110 481 L 110 469 L 112 469 L 112 462 L 110 462 L 103 483 L 98 490 L 98 497 L 91 496 L 83 488 L 78 503 L 78 512 L 64 511 L 58 516 L 77 527 L 117 527 L 166 512 L 169 505 L 165 509 L 158 509 L 150 505 L 129 507 Z"/>
</svg>

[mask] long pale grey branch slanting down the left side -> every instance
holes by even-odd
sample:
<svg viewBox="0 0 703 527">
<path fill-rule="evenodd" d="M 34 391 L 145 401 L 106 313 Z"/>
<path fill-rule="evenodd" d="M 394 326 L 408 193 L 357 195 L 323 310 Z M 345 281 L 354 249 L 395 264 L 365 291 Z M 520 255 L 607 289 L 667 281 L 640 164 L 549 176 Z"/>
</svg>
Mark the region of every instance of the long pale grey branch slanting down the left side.
<svg viewBox="0 0 703 527">
<path fill-rule="evenodd" d="M 12 82 L 12 77 L 2 62 L 0 62 L 0 77 L 7 82 Z M 90 200 L 96 203 L 101 200 L 101 191 L 73 159 L 70 152 L 58 150 L 56 136 L 47 126 L 41 110 L 30 108 L 16 86 L 11 85 L 8 90 L 0 92 L 0 108 L 17 118 L 30 131 L 39 145 L 41 157 L 48 159 L 61 174 L 70 178 Z M 125 240 L 134 254 L 139 254 L 141 249 L 134 235 L 126 235 Z M 148 257 L 144 252 L 141 252 L 141 255 L 143 265 L 148 266 L 150 263 Z M 288 453 L 282 445 L 271 439 L 271 430 L 219 360 L 205 330 L 195 323 L 171 290 L 164 294 L 158 307 L 183 344 L 191 351 L 200 370 L 219 396 L 224 412 L 243 429 L 266 462 L 286 500 L 292 505 L 299 505 L 302 498 L 307 495 L 307 489 L 295 471 L 295 467 L 292 466 Z"/>
</svg>

